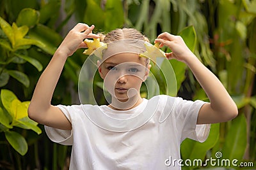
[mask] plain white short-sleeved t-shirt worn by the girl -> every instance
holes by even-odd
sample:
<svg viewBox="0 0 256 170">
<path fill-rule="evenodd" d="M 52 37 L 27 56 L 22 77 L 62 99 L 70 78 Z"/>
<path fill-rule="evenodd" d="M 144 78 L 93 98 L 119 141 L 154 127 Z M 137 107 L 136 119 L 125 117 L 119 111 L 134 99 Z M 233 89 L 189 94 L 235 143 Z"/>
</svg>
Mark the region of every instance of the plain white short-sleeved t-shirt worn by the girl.
<svg viewBox="0 0 256 170">
<path fill-rule="evenodd" d="M 166 159 L 180 159 L 185 138 L 207 139 L 211 125 L 196 125 L 203 104 L 159 95 L 126 111 L 58 105 L 72 130 L 45 126 L 45 131 L 52 141 L 72 145 L 70 169 L 180 169 L 166 166 Z"/>
</svg>

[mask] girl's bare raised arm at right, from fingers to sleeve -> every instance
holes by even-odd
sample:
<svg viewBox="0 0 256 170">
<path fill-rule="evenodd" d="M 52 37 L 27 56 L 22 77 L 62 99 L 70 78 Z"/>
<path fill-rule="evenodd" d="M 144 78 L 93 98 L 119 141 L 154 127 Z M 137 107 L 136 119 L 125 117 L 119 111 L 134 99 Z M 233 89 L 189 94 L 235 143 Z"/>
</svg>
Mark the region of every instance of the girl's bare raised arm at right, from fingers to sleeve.
<svg viewBox="0 0 256 170">
<path fill-rule="evenodd" d="M 180 36 L 164 32 L 155 42 L 161 43 L 160 47 L 166 45 L 172 50 L 171 53 L 166 53 L 168 59 L 177 59 L 187 64 L 209 97 L 210 103 L 204 104 L 199 111 L 197 124 L 227 122 L 237 116 L 237 106 L 225 87 L 189 50 Z"/>
</svg>

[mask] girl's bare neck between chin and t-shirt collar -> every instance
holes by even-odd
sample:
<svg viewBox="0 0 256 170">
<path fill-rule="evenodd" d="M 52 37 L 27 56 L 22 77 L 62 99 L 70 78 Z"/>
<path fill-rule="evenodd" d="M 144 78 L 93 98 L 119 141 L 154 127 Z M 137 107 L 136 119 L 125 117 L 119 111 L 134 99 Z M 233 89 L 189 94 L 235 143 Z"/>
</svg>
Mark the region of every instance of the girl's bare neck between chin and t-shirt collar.
<svg viewBox="0 0 256 170">
<path fill-rule="evenodd" d="M 129 99 L 126 100 L 120 100 L 112 97 L 112 101 L 111 104 L 109 104 L 109 107 L 113 110 L 130 110 L 141 104 L 142 101 L 143 99 L 141 98 L 140 94 L 134 97 L 129 97 Z"/>
</svg>

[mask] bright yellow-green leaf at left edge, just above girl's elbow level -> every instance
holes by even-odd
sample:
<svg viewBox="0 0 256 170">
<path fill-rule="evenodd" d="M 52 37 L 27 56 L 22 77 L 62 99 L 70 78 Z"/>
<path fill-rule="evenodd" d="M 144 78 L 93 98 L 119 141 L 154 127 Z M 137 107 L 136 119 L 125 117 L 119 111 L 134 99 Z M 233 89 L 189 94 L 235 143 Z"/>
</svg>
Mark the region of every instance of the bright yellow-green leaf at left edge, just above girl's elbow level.
<svg viewBox="0 0 256 170">
<path fill-rule="evenodd" d="M 8 113 L 14 118 L 14 115 L 12 115 L 12 101 L 17 99 L 15 94 L 6 89 L 1 90 L 1 101 L 3 103 L 4 108 L 8 111 Z"/>
</svg>

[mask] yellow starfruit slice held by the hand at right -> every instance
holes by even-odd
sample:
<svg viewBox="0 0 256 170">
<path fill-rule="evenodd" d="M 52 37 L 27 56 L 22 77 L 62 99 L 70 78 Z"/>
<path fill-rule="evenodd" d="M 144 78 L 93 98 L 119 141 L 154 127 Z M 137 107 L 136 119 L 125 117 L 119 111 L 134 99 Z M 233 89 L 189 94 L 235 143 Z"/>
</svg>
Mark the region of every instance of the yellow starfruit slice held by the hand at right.
<svg viewBox="0 0 256 170">
<path fill-rule="evenodd" d="M 146 52 L 140 53 L 140 57 L 147 57 L 152 60 L 154 64 L 156 64 L 156 57 L 166 57 L 165 53 L 159 49 L 160 43 L 156 43 L 155 45 L 151 45 L 148 42 L 145 42 Z"/>
</svg>

